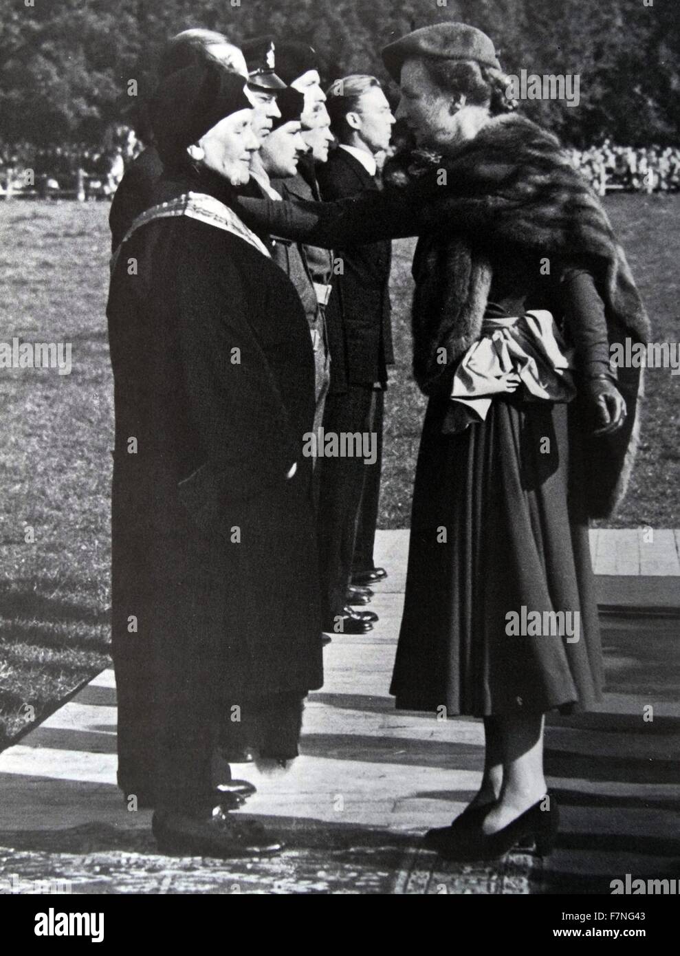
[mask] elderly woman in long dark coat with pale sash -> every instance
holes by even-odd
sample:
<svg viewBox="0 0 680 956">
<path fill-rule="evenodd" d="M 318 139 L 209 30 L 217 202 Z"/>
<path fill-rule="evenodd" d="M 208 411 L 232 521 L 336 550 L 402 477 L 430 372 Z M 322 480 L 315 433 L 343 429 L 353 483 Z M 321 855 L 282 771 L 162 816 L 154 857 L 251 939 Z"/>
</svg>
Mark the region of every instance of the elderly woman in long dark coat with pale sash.
<svg viewBox="0 0 680 956">
<path fill-rule="evenodd" d="M 211 757 L 224 712 L 262 755 L 294 757 L 322 684 L 308 326 L 230 208 L 259 145 L 243 77 L 182 70 L 152 117 L 165 172 L 115 255 L 108 306 L 118 780 L 156 807 L 165 850 L 273 852 L 214 812 Z"/>
</svg>

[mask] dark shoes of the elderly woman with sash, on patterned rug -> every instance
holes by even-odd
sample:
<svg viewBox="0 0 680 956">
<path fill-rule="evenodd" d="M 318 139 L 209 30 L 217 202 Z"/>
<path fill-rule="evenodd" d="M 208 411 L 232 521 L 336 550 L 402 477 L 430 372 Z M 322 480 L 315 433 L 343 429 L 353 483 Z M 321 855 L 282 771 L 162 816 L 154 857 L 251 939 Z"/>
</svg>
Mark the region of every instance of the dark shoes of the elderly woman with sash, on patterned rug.
<svg viewBox="0 0 680 956">
<path fill-rule="evenodd" d="M 232 818 L 221 807 L 202 815 L 157 810 L 152 830 L 161 853 L 187 857 L 271 857 L 285 846 L 262 824 Z"/>
</svg>

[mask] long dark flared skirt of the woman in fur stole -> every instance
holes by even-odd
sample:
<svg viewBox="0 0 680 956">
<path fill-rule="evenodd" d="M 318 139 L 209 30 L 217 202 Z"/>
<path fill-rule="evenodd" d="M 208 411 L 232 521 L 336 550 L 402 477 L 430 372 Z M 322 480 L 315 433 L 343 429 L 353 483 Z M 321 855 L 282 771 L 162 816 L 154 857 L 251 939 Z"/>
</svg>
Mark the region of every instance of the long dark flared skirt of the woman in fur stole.
<svg viewBox="0 0 680 956">
<path fill-rule="evenodd" d="M 602 652 L 576 407 L 508 396 L 444 435 L 448 407 L 432 399 L 423 426 L 396 706 L 587 709 L 601 698 Z M 572 612 L 562 628 L 543 618 L 556 611 Z M 536 634 L 522 626 L 530 612 L 542 615 Z M 528 633 L 513 634 L 518 623 Z"/>
</svg>

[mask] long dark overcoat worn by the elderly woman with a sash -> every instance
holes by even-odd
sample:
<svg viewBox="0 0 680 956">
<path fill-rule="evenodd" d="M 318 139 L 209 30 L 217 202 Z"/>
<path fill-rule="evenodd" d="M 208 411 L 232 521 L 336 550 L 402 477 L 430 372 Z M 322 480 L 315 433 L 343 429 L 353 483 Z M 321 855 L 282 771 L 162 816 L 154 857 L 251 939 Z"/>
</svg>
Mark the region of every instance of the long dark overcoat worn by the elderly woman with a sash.
<svg viewBox="0 0 680 956">
<path fill-rule="evenodd" d="M 189 189 L 230 198 L 203 176 L 161 180 L 156 201 Z M 302 454 L 314 368 L 287 276 L 237 235 L 186 216 L 152 221 L 123 245 L 108 318 L 118 782 L 129 793 L 153 776 L 159 722 L 182 720 L 163 708 L 184 662 L 181 680 L 193 684 L 182 699 L 205 707 L 216 687 L 236 704 L 322 684 Z"/>
</svg>

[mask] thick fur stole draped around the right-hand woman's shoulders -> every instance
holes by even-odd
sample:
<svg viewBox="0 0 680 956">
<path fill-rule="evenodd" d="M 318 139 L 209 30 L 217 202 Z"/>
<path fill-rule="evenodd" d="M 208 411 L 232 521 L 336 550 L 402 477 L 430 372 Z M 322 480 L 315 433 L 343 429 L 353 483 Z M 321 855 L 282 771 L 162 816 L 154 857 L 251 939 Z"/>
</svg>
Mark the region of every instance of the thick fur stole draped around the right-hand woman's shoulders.
<svg viewBox="0 0 680 956">
<path fill-rule="evenodd" d="M 535 123 L 516 114 L 494 118 L 451 156 L 395 158 L 385 181 L 387 189 L 407 186 L 435 204 L 441 223 L 420 238 L 414 256 L 414 377 L 425 394 L 436 393 L 443 373 L 479 337 L 492 279 L 484 252 L 490 245 L 588 262 L 610 342 L 648 341 L 648 316 L 605 210 L 559 141 Z M 640 369 L 620 369 L 627 424 L 613 436 L 586 438 L 596 482 L 592 517 L 610 514 L 623 496 L 640 384 Z"/>
</svg>

